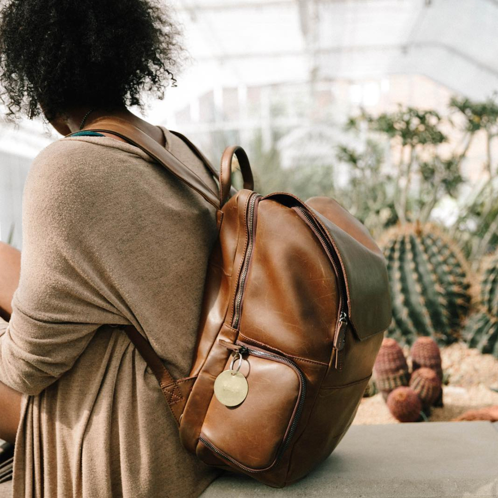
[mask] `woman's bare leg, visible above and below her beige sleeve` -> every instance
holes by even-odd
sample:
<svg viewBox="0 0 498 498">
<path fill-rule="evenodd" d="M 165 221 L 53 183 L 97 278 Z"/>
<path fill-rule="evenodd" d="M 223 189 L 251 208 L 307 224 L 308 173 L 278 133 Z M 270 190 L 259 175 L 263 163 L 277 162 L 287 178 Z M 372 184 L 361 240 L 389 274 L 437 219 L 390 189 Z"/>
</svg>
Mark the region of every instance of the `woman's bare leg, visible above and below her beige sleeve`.
<svg viewBox="0 0 498 498">
<path fill-rule="evenodd" d="M 21 253 L 0 242 L 0 315 L 5 320 L 12 313 L 10 303 L 19 284 L 20 271 Z M 21 393 L 0 382 L 0 439 L 15 442 L 20 408 Z"/>
</svg>

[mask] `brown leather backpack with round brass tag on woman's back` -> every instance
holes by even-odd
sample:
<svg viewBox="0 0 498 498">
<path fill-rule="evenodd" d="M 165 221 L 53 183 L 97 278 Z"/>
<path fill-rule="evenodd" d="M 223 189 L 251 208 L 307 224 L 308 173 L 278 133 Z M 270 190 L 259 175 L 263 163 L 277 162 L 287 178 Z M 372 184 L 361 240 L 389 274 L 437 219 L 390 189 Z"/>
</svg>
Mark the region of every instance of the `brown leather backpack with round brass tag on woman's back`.
<svg viewBox="0 0 498 498">
<path fill-rule="evenodd" d="M 140 147 L 217 209 L 219 239 L 190 376 L 175 380 L 143 336 L 125 327 L 159 381 L 183 445 L 208 465 L 269 486 L 301 479 L 351 425 L 391 320 L 381 251 L 332 199 L 254 192 L 240 147 L 223 154 L 218 197 L 138 128 L 104 119 L 89 129 Z M 238 192 L 234 154 L 244 178 Z M 244 395 L 236 378 L 247 396 L 227 406 Z"/>
</svg>

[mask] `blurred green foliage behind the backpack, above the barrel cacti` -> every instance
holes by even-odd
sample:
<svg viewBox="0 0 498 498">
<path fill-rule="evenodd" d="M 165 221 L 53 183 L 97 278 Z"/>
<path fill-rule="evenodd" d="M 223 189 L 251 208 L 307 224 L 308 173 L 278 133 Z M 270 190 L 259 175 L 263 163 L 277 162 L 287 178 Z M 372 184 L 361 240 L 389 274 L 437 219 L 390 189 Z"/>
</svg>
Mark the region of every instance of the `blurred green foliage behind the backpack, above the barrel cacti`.
<svg viewBox="0 0 498 498">
<path fill-rule="evenodd" d="M 453 97 L 446 115 L 401 104 L 378 115 L 362 110 L 344 129 L 353 145 L 335 146 L 328 164 L 291 167 L 282 164 L 278 137 L 265 151 L 260 133 L 255 134 L 249 157 L 257 188 L 289 191 L 302 199 L 334 197 L 377 239 L 395 225 L 434 221 L 438 204 L 450 201 L 444 225 L 474 268 L 498 246 L 498 161 L 491 147 L 498 135 L 495 96 L 483 102 Z M 480 181 L 463 196 L 469 180 L 462 163 L 478 133 L 486 137 L 486 160 Z M 338 164 L 348 167 L 345 185 L 334 181 Z"/>
</svg>

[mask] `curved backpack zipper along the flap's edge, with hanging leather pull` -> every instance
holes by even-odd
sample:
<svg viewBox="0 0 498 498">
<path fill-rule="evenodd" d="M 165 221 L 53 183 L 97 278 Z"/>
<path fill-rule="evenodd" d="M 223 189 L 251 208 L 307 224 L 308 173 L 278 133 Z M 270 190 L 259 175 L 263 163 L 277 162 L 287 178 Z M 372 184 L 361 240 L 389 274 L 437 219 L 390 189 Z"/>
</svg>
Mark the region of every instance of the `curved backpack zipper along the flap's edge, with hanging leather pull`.
<svg viewBox="0 0 498 498">
<path fill-rule="evenodd" d="M 323 235 L 322 228 L 318 225 L 315 219 L 308 213 L 302 206 L 296 206 L 296 209 L 307 220 L 315 235 L 320 239 L 323 248 L 327 252 L 332 265 L 335 268 L 337 275 L 337 282 L 339 286 L 339 317 L 337 319 L 336 330 L 334 332 L 334 349 L 336 351 L 335 368 L 342 370 L 344 368 L 344 346 L 346 344 L 346 330 L 348 328 L 348 313 L 346 311 L 346 303 L 348 297 L 346 295 L 346 281 L 342 271 L 341 263 L 336 250 L 328 240 L 328 237 Z"/>
</svg>

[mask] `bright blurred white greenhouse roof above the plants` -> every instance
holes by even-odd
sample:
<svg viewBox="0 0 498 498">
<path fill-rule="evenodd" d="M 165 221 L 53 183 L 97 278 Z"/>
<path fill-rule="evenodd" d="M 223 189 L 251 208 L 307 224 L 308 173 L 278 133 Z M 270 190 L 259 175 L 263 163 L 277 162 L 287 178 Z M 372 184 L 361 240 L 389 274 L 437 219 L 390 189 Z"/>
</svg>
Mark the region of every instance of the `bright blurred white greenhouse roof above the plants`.
<svg viewBox="0 0 498 498">
<path fill-rule="evenodd" d="M 421 74 L 498 90 L 497 0 L 175 0 L 194 65 L 180 82 L 266 85 Z M 187 81 L 186 81 L 187 80 Z"/>
</svg>

